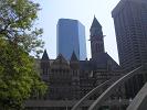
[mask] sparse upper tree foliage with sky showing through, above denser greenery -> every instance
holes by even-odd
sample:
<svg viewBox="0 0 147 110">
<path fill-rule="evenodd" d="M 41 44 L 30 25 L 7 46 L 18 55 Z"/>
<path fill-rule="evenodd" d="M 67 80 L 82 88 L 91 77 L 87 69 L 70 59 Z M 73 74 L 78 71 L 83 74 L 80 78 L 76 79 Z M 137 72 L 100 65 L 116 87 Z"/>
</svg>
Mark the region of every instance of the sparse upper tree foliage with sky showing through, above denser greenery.
<svg viewBox="0 0 147 110">
<path fill-rule="evenodd" d="M 0 35 L 27 52 L 41 52 L 42 29 L 33 28 L 39 4 L 29 0 L 0 0 Z"/>
</svg>

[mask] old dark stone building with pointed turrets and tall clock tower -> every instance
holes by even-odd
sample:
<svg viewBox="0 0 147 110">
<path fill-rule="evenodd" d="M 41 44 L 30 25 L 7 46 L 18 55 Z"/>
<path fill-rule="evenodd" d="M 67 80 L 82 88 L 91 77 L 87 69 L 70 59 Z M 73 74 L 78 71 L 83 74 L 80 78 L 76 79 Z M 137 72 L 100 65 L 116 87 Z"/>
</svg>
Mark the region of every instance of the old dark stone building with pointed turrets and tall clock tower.
<svg viewBox="0 0 147 110">
<path fill-rule="evenodd" d="M 55 59 L 50 59 L 44 51 L 39 64 L 41 77 L 49 85 L 49 91 L 43 98 L 28 101 L 28 110 L 71 110 L 73 105 L 90 90 L 111 78 L 120 76 L 119 65 L 104 52 L 102 26 L 96 18 L 91 26 L 91 44 L 92 58 L 90 61 L 80 61 L 75 51 L 70 61 L 66 61 L 62 54 L 59 54 Z M 99 96 L 106 87 L 90 101 Z M 123 89 L 117 90 L 113 98 L 123 97 Z M 90 102 L 84 108 L 88 106 Z"/>
</svg>

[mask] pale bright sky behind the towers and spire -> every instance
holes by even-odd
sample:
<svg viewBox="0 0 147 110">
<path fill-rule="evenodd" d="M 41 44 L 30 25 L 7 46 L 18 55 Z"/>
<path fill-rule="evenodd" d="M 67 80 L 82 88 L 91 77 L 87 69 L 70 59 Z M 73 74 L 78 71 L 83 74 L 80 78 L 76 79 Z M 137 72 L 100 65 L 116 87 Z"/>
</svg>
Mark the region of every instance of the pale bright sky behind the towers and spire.
<svg viewBox="0 0 147 110">
<path fill-rule="evenodd" d="M 90 28 L 94 15 L 103 26 L 105 52 L 107 52 L 117 63 L 117 45 L 112 18 L 112 10 L 119 0 L 34 0 L 41 6 L 36 26 L 42 28 L 43 41 L 45 42 L 49 57 L 56 57 L 56 24 L 59 19 L 78 20 L 85 25 L 87 58 L 91 58 Z"/>
</svg>

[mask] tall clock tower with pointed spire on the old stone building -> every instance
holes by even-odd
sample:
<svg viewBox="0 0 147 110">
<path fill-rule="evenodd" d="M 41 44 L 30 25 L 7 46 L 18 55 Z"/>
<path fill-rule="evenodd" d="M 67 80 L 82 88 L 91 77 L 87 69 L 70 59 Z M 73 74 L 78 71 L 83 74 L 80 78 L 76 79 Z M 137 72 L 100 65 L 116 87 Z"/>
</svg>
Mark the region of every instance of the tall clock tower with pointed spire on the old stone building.
<svg viewBox="0 0 147 110">
<path fill-rule="evenodd" d="M 105 53 L 104 48 L 104 36 L 102 32 L 102 25 L 94 16 L 92 26 L 90 29 L 91 32 L 91 51 L 92 58 L 96 58 L 101 53 Z"/>
</svg>

